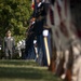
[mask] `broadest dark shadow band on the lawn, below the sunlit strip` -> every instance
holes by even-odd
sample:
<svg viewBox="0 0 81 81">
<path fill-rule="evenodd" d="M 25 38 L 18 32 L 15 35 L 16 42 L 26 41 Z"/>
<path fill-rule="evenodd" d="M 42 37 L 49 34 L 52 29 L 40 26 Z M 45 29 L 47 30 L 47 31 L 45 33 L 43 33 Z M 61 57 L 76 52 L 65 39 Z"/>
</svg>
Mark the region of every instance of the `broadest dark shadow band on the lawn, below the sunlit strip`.
<svg viewBox="0 0 81 81">
<path fill-rule="evenodd" d="M 0 67 L 0 79 L 4 78 L 39 80 L 42 78 L 42 75 L 41 71 L 39 72 L 33 68 Z"/>
</svg>

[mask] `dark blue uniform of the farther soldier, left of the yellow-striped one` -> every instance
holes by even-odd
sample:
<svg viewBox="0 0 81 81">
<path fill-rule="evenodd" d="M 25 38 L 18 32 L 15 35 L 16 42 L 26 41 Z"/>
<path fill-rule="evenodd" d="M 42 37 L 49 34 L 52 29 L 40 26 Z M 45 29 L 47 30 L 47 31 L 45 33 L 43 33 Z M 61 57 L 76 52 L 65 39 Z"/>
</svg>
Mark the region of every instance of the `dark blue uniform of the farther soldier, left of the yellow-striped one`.
<svg viewBox="0 0 81 81">
<path fill-rule="evenodd" d="M 35 22 L 32 22 L 27 29 L 27 38 L 26 38 L 26 48 L 25 48 L 25 55 L 23 55 L 24 59 L 33 59 L 35 52 L 33 52 L 33 39 L 35 39 L 35 31 L 33 31 Z"/>
</svg>

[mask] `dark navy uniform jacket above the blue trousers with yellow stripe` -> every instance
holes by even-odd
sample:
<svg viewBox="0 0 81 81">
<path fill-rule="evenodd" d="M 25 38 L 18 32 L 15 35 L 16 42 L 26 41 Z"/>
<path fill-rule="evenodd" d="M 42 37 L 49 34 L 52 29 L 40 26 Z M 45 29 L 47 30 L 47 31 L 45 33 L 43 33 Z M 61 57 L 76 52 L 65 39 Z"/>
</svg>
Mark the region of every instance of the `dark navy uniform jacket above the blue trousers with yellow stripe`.
<svg viewBox="0 0 81 81">
<path fill-rule="evenodd" d="M 33 17 L 36 18 L 35 32 L 38 36 L 42 33 L 43 25 L 45 23 L 46 16 L 45 3 L 40 2 L 35 11 L 36 11 L 33 15 Z"/>
</svg>

